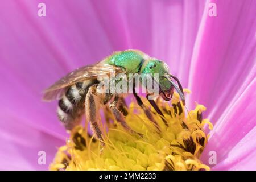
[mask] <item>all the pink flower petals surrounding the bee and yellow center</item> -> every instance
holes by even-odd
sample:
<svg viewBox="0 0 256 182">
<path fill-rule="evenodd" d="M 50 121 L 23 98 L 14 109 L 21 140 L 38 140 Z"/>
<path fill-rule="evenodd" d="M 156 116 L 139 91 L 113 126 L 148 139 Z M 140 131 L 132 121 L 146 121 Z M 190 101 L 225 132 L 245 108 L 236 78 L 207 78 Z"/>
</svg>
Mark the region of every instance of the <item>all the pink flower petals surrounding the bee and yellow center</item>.
<svg viewBox="0 0 256 182">
<path fill-rule="evenodd" d="M 256 169 L 255 1 L 43 0 L 45 17 L 40 2 L 0 5 L 0 169 L 48 169 L 67 135 L 42 90 L 123 49 L 166 61 L 192 91 L 188 107 L 207 107 L 214 129 L 203 163 L 214 151 L 212 169 Z"/>
</svg>

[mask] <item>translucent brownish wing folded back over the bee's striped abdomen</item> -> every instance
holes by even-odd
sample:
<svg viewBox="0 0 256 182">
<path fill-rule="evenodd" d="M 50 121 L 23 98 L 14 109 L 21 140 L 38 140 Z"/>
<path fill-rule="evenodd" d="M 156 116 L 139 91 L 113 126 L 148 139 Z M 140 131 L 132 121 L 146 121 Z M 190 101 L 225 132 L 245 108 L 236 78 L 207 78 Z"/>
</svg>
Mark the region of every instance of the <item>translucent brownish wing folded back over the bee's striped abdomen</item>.
<svg viewBox="0 0 256 182">
<path fill-rule="evenodd" d="M 122 69 L 114 65 L 102 63 L 78 68 L 55 82 L 55 84 L 50 86 L 48 89 L 44 90 L 43 100 L 59 100 L 67 91 L 68 86 L 88 79 L 97 79 L 98 76 L 110 76 L 112 72 L 116 75 L 117 73 L 122 72 Z"/>
</svg>

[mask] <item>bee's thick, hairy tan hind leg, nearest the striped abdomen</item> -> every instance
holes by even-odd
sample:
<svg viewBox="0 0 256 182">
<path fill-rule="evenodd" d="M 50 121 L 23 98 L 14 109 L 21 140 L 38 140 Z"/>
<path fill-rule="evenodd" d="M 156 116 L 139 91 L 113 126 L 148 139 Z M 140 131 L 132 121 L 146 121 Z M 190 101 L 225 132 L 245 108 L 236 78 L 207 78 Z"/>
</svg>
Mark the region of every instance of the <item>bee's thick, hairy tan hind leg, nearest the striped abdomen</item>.
<svg viewBox="0 0 256 182">
<path fill-rule="evenodd" d="M 97 88 L 95 86 L 91 86 L 86 94 L 85 114 L 87 121 L 90 122 L 93 133 L 101 140 L 102 145 L 104 145 L 102 132 L 97 123 L 100 119 L 100 100 L 96 94 L 96 90 Z"/>
</svg>

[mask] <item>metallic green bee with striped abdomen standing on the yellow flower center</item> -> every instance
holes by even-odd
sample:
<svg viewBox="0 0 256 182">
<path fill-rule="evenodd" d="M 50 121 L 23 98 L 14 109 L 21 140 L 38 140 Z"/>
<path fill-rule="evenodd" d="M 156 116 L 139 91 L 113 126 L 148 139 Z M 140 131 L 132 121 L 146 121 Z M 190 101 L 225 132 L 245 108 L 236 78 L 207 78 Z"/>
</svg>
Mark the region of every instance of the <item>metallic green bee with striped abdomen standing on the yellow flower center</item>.
<svg viewBox="0 0 256 182">
<path fill-rule="evenodd" d="M 106 75 L 110 77 L 111 73 L 115 75 L 118 73 L 126 75 L 128 73 L 144 75 L 158 73 L 158 92 L 163 100 L 170 101 L 174 89 L 176 89 L 183 101 L 183 105 L 185 105 L 183 88 L 180 81 L 169 72 L 168 65 L 164 61 L 152 58 L 142 51 L 117 51 L 96 64 L 78 68 L 64 76 L 44 91 L 43 100 L 59 100 L 57 115 L 67 130 L 72 130 L 73 127 L 79 125 L 82 116 L 85 114 L 86 121 L 90 123 L 94 135 L 104 143 L 104 137 L 98 125 L 100 109 L 104 107 L 113 114 L 115 120 L 120 122 L 126 130 L 142 137 L 142 134 L 131 129 L 125 122 L 127 110 L 123 106 L 125 104 L 122 104 L 124 96 L 119 93 L 98 92 L 98 85 L 101 81 L 100 77 Z M 172 81 L 172 78 L 177 82 L 177 85 Z M 133 96 L 138 105 L 142 108 L 148 119 L 154 122 L 155 126 L 158 126 L 150 109 L 143 104 L 141 97 L 135 92 L 135 86 L 134 84 Z M 150 93 L 146 96 L 147 100 L 154 107 L 156 113 L 161 115 L 163 121 L 165 121 L 162 111 L 154 100 L 149 99 L 149 96 Z"/>
</svg>

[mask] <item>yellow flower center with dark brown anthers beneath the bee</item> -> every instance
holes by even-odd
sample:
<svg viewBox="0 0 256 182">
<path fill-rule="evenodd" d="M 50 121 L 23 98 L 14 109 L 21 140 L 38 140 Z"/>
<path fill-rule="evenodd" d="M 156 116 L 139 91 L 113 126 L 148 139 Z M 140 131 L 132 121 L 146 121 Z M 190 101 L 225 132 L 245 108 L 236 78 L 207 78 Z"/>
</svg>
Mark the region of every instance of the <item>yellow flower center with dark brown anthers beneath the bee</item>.
<svg viewBox="0 0 256 182">
<path fill-rule="evenodd" d="M 185 92 L 189 92 L 185 90 Z M 144 101 L 146 104 L 147 101 Z M 209 170 L 201 163 L 200 155 L 207 144 L 204 125 L 212 123 L 202 118 L 203 105 L 185 114 L 179 95 L 174 93 L 171 105 L 157 101 L 168 123 L 151 108 L 160 132 L 141 108 L 132 102 L 126 116 L 127 124 L 139 135 L 114 121 L 101 125 L 105 132 L 105 146 L 87 134 L 87 128 L 78 126 L 71 131 L 65 146 L 59 148 L 50 165 L 51 170 Z M 113 118 L 109 115 L 110 118 Z"/>
</svg>

